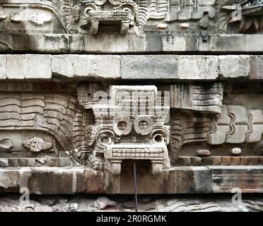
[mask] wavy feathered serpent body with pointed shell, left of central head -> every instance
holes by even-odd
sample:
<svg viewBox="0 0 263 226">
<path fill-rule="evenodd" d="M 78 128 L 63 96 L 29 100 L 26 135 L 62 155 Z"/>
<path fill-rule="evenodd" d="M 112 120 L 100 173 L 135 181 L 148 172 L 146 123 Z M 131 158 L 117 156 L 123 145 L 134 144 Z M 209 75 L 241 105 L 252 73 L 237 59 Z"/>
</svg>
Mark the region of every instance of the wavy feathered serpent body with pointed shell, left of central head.
<svg viewBox="0 0 263 226">
<path fill-rule="evenodd" d="M 4 87 L 3 85 L 2 88 Z M 30 83 L 18 85 L 18 90 L 24 90 L 26 87 L 30 90 Z M 45 94 L 18 92 L 20 93 L 0 93 L 0 131 L 13 131 L 17 133 L 18 139 L 21 139 L 23 131 L 46 133 L 45 137 L 48 134 L 53 139 L 47 141 L 45 137 L 37 136 L 28 139 L 27 136 L 23 145 L 33 152 L 54 151 L 60 157 L 66 157 L 61 154 L 66 151 L 69 158 L 76 162 L 72 145 L 74 115 L 79 111 L 76 97 L 50 92 Z M 55 141 L 56 146 L 51 141 Z"/>
</svg>

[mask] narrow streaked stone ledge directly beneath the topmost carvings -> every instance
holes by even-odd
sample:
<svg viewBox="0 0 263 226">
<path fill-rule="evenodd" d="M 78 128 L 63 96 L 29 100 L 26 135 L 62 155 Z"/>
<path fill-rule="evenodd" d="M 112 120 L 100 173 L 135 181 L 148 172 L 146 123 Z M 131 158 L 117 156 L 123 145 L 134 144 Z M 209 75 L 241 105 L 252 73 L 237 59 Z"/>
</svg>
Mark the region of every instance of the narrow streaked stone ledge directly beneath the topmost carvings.
<svg viewBox="0 0 263 226">
<path fill-rule="evenodd" d="M 263 52 L 262 35 L 67 35 L 0 34 L 0 52 L 177 53 Z"/>
</svg>

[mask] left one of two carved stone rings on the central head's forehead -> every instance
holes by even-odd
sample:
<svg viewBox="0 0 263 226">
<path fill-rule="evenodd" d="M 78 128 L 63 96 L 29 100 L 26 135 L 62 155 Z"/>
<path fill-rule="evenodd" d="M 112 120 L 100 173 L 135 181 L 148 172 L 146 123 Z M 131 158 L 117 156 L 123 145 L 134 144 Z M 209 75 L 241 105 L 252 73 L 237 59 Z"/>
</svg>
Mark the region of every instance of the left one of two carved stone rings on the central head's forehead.
<svg viewBox="0 0 263 226">
<path fill-rule="evenodd" d="M 113 131 L 118 136 L 125 136 L 131 132 L 131 119 L 129 117 L 117 117 L 113 123 Z"/>
</svg>

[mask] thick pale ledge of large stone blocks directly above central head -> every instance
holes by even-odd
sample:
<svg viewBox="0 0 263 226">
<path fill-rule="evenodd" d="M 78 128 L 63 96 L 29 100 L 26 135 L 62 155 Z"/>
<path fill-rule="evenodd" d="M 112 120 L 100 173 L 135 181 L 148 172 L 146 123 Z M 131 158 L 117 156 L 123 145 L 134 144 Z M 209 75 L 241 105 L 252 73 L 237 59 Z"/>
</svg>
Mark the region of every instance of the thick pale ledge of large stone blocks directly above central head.
<svg viewBox="0 0 263 226">
<path fill-rule="evenodd" d="M 0 54 L 0 79 L 262 80 L 260 55 Z"/>
</svg>

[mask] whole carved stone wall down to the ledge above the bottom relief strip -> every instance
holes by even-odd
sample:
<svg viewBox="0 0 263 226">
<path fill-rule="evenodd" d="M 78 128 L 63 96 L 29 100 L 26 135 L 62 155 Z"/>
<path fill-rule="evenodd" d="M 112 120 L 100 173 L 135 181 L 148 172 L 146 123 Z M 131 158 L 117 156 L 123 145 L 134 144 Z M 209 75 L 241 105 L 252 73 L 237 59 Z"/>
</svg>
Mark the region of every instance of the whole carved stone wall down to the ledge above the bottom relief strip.
<svg viewBox="0 0 263 226">
<path fill-rule="evenodd" d="M 0 191 L 261 193 L 262 8 L 1 1 Z"/>
</svg>

